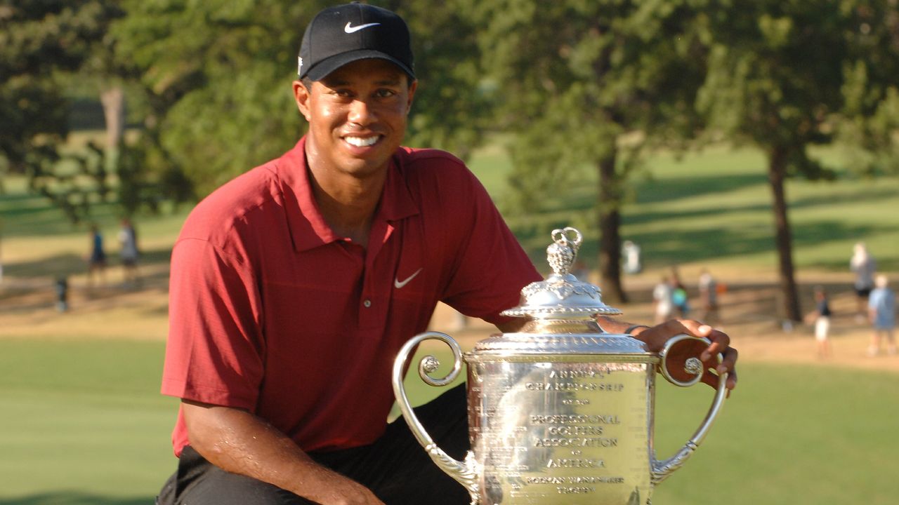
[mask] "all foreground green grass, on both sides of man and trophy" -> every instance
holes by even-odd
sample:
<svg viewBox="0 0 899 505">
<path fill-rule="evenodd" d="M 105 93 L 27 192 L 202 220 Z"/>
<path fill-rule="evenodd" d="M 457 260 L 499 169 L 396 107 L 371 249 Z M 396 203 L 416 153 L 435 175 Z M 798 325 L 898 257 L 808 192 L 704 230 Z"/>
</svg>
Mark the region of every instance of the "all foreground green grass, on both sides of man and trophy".
<svg viewBox="0 0 899 505">
<path fill-rule="evenodd" d="M 0 504 L 152 503 L 174 470 L 162 356 L 160 342 L 0 340 Z M 406 383 L 419 401 L 443 391 Z M 659 385 L 660 457 L 690 437 L 711 397 Z M 708 439 L 654 503 L 895 503 L 897 403 L 893 374 L 745 365 Z"/>
</svg>

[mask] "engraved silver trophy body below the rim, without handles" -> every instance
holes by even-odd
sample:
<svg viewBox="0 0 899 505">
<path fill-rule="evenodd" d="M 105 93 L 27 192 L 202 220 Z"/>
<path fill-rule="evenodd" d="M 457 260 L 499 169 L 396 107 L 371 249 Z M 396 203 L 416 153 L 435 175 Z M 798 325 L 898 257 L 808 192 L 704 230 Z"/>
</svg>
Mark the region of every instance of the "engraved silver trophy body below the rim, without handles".
<svg viewBox="0 0 899 505">
<path fill-rule="evenodd" d="M 467 365 L 482 503 L 645 503 L 653 363 L 478 357 Z"/>
</svg>

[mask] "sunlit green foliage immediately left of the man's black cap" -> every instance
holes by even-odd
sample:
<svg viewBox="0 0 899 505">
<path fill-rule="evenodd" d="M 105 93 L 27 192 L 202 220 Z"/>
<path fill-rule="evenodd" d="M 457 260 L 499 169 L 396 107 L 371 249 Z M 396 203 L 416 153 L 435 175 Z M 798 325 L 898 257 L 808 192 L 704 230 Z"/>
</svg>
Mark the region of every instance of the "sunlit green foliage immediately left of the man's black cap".
<svg viewBox="0 0 899 505">
<path fill-rule="evenodd" d="M 302 27 L 324 5 L 126 2 L 112 33 L 147 94 L 147 170 L 203 195 L 286 151 L 301 130 L 290 83 Z"/>
</svg>

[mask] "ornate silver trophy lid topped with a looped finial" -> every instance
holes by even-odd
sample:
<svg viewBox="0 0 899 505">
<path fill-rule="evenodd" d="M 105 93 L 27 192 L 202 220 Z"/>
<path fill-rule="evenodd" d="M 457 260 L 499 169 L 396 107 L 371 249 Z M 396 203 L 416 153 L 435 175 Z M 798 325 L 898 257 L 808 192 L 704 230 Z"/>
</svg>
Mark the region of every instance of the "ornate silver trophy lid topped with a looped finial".
<svg viewBox="0 0 899 505">
<path fill-rule="evenodd" d="M 553 230 L 547 261 L 553 273 L 521 289 L 521 305 L 502 315 L 533 319 L 592 319 L 595 315 L 619 315 L 617 308 L 602 303 L 600 288 L 574 277 L 571 270 L 583 235 L 572 227 Z"/>
</svg>

